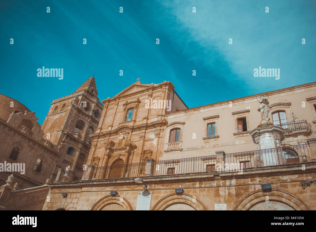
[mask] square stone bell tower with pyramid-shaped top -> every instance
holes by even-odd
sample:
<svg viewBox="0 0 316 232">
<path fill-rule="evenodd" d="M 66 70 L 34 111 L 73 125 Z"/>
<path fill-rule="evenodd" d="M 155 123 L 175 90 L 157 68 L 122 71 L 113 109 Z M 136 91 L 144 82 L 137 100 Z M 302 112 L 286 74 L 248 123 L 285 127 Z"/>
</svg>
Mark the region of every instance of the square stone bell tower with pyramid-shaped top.
<svg viewBox="0 0 316 232">
<path fill-rule="evenodd" d="M 76 92 L 53 100 L 42 125 L 44 138 L 58 146 L 58 168 L 82 169 L 92 145 L 90 134 L 98 127 L 103 104 L 97 97 L 94 77 L 86 80 Z"/>
</svg>

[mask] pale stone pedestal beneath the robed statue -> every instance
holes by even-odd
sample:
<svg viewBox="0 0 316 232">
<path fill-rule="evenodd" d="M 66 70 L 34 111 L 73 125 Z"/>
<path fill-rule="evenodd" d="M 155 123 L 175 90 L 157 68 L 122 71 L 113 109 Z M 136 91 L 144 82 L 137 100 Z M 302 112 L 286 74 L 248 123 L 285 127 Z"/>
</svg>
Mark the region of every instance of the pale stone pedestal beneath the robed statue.
<svg viewBox="0 0 316 232">
<path fill-rule="evenodd" d="M 274 125 L 257 127 L 250 132 L 250 135 L 257 144 L 257 150 L 261 150 L 254 154 L 255 167 L 286 164 L 284 153 L 281 151 L 281 142 L 284 140 L 281 127 Z"/>
</svg>

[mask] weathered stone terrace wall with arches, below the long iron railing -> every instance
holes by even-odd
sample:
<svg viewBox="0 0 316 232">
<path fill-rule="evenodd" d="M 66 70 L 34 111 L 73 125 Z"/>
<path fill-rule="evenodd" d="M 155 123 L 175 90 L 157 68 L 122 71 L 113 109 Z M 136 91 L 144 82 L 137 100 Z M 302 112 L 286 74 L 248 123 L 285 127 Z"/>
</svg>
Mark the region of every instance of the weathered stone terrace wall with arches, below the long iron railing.
<svg viewBox="0 0 316 232">
<path fill-rule="evenodd" d="M 133 178 L 72 183 L 50 183 L 43 210 L 136 210 L 137 196 L 151 192 L 150 210 L 316 210 L 315 186 L 303 189 L 301 181 L 315 179 L 316 163 L 255 168 L 239 172 L 212 172 L 142 177 L 147 190 Z M 267 182 L 265 182 L 267 181 Z M 264 191 L 262 184 L 270 183 Z M 175 188 L 184 193 L 177 195 Z M 110 195 L 110 191 L 117 195 Z M 63 198 L 61 193 L 67 193 Z"/>
</svg>

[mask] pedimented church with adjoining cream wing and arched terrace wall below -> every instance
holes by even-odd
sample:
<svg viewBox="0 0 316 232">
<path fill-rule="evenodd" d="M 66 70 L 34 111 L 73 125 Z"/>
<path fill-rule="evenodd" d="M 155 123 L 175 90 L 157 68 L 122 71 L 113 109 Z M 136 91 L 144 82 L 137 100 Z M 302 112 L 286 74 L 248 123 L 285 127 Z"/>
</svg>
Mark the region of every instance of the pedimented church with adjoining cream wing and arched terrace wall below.
<svg viewBox="0 0 316 232">
<path fill-rule="evenodd" d="M 103 100 L 87 169 L 60 168 L 3 207 L 316 210 L 316 82 L 194 108 L 174 88 L 138 79 Z"/>
</svg>

